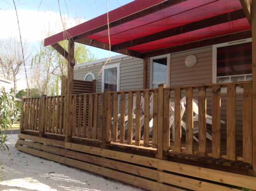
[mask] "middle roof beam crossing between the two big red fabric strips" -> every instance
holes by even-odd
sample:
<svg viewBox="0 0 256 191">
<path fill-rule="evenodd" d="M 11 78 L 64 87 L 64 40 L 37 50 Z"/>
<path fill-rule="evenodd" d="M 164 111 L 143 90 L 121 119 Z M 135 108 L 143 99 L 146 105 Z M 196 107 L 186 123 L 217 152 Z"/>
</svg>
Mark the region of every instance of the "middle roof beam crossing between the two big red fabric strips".
<svg viewBox="0 0 256 191">
<path fill-rule="evenodd" d="M 202 29 L 202 28 L 222 24 L 222 23 L 225 23 L 225 22 L 238 20 L 238 19 L 241 19 L 241 18 L 244 18 L 244 17 L 245 17 L 244 11 L 242 9 L 240 9 L 240 10 L 236 10 L 236 11 L 233 11 L 233 12 L 229 12 L 229 13 L 221 14 L 221 15 L 214 16 L 214 17 L 211 17 L 211 18 L 207 18 L 207 19 L 204 19 L 204 20 L 200 20 L 200 21 L 197 21 L 197 22 L 189 23 L 189 24 L 186 24 L 186 25 L 183 25 L 183 26 L 178 26 L 176 28 L 171 28 L 171 29 L 168 29 L 168 30 L 165 30 L 165 31 L 161 31 L 161 32 L 158 32 L 158 33 L 155 33 L 155 34 L 148 35 L 148 36 L 143 36 L 141 38 L 137 38 L 137 39 L 130 40 L 130 41 L 127 41 L 127 42 L 123 42 L 123 43 L 120 43 L 120 44 L 116 44 L 116 45 L 113 45 L 111 47 L 111 50 L 116 51 L 116 50 L 132 47 L 132 46 L 137 46 L 137 45 L 144 44 L 144 43 L 147 43 L 147 42 L 152 42 L 152 41 L 155 41 L 155 40 L 168 38 L 170 36 L 175 36 L 175 35 L 178 35 L 178 34 L 184 34 L 186 32 L 191 32 L 191 31 L 194 31 L 194 30 L 198 30 L 198 29 Z"/>
</svg>

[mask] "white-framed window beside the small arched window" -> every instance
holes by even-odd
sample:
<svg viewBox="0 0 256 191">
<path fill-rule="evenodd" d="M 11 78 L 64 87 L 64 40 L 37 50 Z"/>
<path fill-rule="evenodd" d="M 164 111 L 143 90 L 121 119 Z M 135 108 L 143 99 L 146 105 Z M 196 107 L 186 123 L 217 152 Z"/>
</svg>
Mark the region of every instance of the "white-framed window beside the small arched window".
<svg viewBox="0 0 256 191">
<path fill-rule="evenodd" d="M 102 71 L 102 92 L 110 89 L 112 92 L 119 91 L 120 64 L 111 64 Z"/>
</svg>

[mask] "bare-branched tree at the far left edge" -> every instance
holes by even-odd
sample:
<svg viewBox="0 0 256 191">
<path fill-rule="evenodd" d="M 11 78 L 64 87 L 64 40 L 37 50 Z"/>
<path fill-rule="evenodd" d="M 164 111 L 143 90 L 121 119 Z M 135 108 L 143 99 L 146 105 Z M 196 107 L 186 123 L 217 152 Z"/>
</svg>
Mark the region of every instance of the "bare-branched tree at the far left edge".
<svg viewBox="0 0 256 191">
<path fill-rule="evenodd" d="M 28 44 L 23 43 L 24 47 L 24 60 L 25 63 L 29 62 L 31 51 L 29 50 Z M 14 82 L 14 97 L 17 90 L 18 74 L 22 72 L 24 68 L 22 50 L 20 41 L 16 38 L 0 39 L 0 67 L 2 76 L 6 80 Z"/>
</svg>

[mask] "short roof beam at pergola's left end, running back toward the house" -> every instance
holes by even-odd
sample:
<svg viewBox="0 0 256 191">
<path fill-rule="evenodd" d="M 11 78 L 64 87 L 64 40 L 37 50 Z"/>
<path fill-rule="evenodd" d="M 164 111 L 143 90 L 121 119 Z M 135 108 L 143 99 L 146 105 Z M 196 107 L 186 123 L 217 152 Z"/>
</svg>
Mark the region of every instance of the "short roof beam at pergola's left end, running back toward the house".
<svg viewBox="0 0 256 191">
<path fill-rule="evenodd" d="M 99 41 L 96 41 L 96 40 L 92 40 L 92 39 L 89 39 L 89 38 L 80 38 L 80 39 L 74 38 L 74 41 L 77 42 L 77 43 L 88 45 L 88 46 L 93 46 L 93 47 L 96 47 L 96 48 L 109 50 L 109 44 L 99 42 Z M 116 50 L 116 51 L 113 51 L 113 52 L 117 52 L 117 53 L 120 53 L 120 54 L 125 54 L 125 55 L 128 55 L 128 56 L 133 56 L 133 57 L 136 57 L 136 58 L 142 58 L 143 57 L 143 55 L 141 53 L 135 52 L 135 51 L 132 51 L 132 50 L 127 50 L 127 49 Z"/>
</svg>

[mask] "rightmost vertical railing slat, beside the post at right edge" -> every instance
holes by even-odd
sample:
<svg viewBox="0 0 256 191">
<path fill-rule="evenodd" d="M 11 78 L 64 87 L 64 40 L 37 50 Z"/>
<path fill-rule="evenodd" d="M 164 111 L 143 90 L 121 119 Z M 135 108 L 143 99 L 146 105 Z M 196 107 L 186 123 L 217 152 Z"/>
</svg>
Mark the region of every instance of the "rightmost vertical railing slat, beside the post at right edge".
<svg viewBox="0 0 256 191">
<path fill-rule="evenodd" d="M 244 84 L 243 161 L 252 163 L 252 84 Z"/>
</svg>

